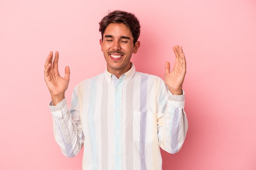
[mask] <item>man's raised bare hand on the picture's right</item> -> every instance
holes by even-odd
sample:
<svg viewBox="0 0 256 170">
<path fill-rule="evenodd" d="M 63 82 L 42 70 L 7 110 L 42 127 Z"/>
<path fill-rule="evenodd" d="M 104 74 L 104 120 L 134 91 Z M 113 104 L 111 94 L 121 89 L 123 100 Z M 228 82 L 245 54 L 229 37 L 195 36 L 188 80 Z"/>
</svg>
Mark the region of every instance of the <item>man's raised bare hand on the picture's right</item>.
<svg viewBox="0 0 256 170">
<path fill-rule="evenodd" d="M 173 95 L 182 95 L 182 84 L 186 74 L 186 60 L 181 46 L 174 46 L 176 59 L 173 71 L 170 72 L 170 63 L 165 63 L 164 82 Z"/>
</svg>

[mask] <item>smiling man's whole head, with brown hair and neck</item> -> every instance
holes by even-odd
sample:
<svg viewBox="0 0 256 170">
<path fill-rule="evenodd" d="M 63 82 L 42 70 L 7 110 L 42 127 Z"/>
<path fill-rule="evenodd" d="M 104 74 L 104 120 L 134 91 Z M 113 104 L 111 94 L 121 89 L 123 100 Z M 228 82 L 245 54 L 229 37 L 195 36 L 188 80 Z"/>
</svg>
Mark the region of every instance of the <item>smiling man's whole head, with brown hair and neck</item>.
<svg viewBox="0 0 256 170">
<path fill-rule="evenodd" d="M 132 54 L 136 54 L 139 49 L 139 21 L 132 13 L 113 11 L 99 24 L 102 35 L 99 43 L 108 72 L 119 78 L 130 70 Z"/>
</svg>

